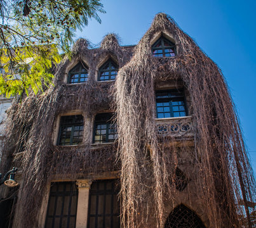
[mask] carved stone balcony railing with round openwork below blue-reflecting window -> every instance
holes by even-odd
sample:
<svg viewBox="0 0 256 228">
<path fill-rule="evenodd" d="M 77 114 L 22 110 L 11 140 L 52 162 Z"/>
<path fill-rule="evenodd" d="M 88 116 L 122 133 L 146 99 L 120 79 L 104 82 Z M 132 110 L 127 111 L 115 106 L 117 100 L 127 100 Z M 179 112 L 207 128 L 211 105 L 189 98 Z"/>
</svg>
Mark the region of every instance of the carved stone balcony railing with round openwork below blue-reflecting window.
<svg viewBox="0 0 256 228">
<path fill-rule="evenodd" d="M 193 137 L 192 117 L 174 117 L 156 119 L 158 136 Z"/>
</svg>

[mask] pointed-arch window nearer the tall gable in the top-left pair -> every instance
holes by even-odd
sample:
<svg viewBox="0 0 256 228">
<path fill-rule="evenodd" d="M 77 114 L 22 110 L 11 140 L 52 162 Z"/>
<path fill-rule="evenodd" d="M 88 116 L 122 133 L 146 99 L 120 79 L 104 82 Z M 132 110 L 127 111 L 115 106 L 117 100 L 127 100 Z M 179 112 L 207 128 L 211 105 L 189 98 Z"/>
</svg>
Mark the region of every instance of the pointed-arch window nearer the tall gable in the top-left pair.
<svg viewBox="0 0 256 228">
<path fill-rule="evenodd" d="M 98 81 L 115 80 L 118 74 L 118 65 L 109 59 L 98 70 Z"/>
</svg>

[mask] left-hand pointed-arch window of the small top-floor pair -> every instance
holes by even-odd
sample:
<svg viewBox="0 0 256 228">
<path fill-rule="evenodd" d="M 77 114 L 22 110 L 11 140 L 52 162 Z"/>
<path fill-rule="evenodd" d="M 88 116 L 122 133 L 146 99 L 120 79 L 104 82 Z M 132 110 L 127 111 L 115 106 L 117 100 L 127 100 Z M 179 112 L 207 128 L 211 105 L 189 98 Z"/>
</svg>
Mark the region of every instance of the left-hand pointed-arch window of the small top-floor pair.
<svg viewBox="0 0 256 228">
<path fill-rule="evenodd" d="M 78 63 L 69 72 L 69 84 L 86 82 L 88 80 L 88 67 L 84 63 Z"/>
</svg>

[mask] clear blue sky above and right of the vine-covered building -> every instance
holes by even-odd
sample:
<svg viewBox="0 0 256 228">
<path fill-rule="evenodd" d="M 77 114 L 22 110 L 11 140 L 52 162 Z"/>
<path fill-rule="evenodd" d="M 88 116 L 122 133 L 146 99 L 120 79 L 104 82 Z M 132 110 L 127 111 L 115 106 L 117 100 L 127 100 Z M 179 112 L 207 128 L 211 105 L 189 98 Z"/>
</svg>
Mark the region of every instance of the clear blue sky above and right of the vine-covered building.
<svg viewBox="0 0 256 228">
<path fill-rule="evenodd" d="M 103 0 L 102 23 L 90 20 L 77 38 L 98 44 L 107 33 L 121 45 L 137 44 L 159 12 L 173 17 L 222 69 L 238 110 L 256 174 L 256 19 L 255 0 Z"/>
</svg>

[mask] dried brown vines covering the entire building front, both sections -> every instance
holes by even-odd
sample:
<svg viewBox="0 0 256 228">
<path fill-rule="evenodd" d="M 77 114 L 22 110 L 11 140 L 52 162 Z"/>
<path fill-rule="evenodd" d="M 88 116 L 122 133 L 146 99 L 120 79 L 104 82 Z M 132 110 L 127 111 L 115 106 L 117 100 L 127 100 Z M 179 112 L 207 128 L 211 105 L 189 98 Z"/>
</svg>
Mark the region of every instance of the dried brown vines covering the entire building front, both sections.
<svg viewBox="0 0 256 228">
<path fill-rule="evenodd" d="M 161 32 L 173 35 L 175 58 L 152 56 L 151 41 Z M 123 227 L 143 227 L 152 218 L 163 227 L 166 206 L 174 205 L 179 194 L 173 183 L 177 180 L 179 156 L 185 153 L 191 154 L 192 162 L 184 165 L 184 170 L 191 174 L 192 181 L 184 191 L 203 207 L 211 227 L 246 227 L 239 216 L 248 207 L 238 201 L 255 201 L 255 180 L 238 117 L 218 66 L 163 13 L 156 16 L 136 47 L 119 46 L 112 34 L 104 38 L 100 48 L 88 46 L 87 41 L 79 39 L 72 56 L 72 61 L 90 66 L 86 84 L 64 82 L 66 68 L 71 66 L 71 61 L 64 58 L 55 73 L 55 87 L 13 103 L 8 113 L 8 147 L 2 166 L 9 168 L 8 160 L 14 156 L 23 170 L 19 227 L 37 226 L 46 183 L 51 179 L 81 179 L 91 172 L 109 170 L 120 171 Z M 117 61 L 119 72 L 116 82 L 100 84 L 95 75 L 98 64 L 107 56 Z M 193 146 L 179 139 L 177 147 L 177 139 L 158 136 L 154 89 L 159 82 L 170 81 L 177 85 L 182 82 L 189 94 Z M 69 110 L 81 110 L 91 119 L 100 111 L 116 110 L 118 143 L 98 149 L 91 148 L 90 140 L 72 149 L 53 146 L 57 116 Z M 24 140 L 25 152 L 17 153 Z"/>
</svg>

